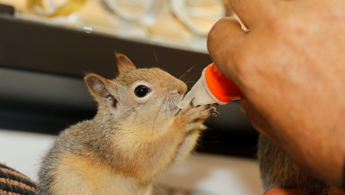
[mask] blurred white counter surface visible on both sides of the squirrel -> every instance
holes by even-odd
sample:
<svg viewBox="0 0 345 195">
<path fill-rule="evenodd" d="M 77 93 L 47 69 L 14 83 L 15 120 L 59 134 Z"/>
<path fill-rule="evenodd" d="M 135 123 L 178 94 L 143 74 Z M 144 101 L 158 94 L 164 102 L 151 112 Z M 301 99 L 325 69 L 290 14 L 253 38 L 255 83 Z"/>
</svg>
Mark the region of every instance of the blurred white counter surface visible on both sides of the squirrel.
<svg viewBox="0 0 345 195">
<path fill-rule="evenodd" d="M 0 129 L 0 162 L 37 179 L 39 159 L 54 136 Z M 196 154 L 173 167 L 159 181 L 176 188 L 196 189 L 215 195 L 262 195 L 255 160 Z"/>
</svg>

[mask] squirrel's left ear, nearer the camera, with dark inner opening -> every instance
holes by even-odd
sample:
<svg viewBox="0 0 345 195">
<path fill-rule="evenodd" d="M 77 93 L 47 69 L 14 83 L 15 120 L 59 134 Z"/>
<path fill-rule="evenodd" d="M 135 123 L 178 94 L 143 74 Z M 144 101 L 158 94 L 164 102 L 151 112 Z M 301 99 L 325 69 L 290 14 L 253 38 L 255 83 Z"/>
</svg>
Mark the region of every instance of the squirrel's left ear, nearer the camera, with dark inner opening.
<svg viewBox="0 0 345 195">
<path fill-rule="evenodd" d="M 108 90 L 108 88 L 113 85 L 110 80 L 93 73 L 87 74 L 84 80 L 93 96 L 103 102 L 111 101 L 113 106 L 116 107 L 117 100 Z"/>
</svg>

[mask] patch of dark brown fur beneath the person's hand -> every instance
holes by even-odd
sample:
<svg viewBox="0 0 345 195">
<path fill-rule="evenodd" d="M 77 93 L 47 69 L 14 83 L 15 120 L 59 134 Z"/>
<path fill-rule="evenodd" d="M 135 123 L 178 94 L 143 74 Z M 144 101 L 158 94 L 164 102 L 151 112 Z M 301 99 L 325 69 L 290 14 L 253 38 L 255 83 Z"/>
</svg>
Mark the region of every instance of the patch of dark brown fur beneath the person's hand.
<svg viewBox="0 0 345 195">
<path fill-rule="evenodd" d="M 309 175 L 264 136 L 259 136 L 258 160 L 265 191 L 270 188 L 302 188 L 311 195 L 345 195 L 345 192 Z"/>
</svg>

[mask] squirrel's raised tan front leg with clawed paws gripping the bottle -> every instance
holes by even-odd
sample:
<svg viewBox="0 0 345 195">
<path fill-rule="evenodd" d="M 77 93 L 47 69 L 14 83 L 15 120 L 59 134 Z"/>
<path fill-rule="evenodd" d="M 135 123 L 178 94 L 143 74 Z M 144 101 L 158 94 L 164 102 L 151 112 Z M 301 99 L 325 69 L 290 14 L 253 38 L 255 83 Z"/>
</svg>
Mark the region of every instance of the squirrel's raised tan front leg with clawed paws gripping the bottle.
<svg viewBox="0 0 345 195">
<path fill-rule="evenodd" d="M 138 166 L 138 174 L 142 178 L 153 178 L 178 160 L 185 159 L 194 149 L 199 133 L 205 130 L 205 120 L 216 115 L 212 106 L 191 105 L 182 109 L 169 124 L 169 129 L 158 139 L 148 142 L 144 153 L 137 153 L 145 160 Z M 149 171 L 147 171 L 149 169 Z"/>
</svg>

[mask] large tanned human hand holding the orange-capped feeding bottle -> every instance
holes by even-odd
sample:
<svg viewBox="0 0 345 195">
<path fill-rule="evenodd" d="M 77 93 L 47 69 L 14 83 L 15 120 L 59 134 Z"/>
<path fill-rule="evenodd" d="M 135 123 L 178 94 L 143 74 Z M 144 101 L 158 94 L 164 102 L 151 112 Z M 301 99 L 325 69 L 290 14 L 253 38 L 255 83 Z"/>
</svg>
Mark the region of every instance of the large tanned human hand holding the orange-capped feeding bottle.
<svg viewBox="0 0 345 195">
<path fill-rule="evenodd" d="M 345 1 L 229 0 L 250 29 L 219 20 L 211 58 L 253 126 L 307 172 L 342 187 Z"/>
</svg>

